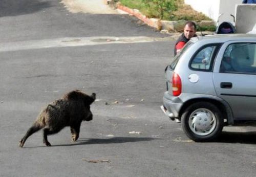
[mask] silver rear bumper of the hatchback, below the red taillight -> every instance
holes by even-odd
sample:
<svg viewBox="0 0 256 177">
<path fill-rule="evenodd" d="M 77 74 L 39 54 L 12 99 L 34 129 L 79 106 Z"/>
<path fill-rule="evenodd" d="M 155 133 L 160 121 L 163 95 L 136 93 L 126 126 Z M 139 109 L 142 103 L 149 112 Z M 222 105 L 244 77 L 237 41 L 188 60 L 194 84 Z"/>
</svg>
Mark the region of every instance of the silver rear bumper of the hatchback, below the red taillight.
<svg viewBox="0 0 256 177">
<path fill-rule="evenodd" d="M 170 119 L 180 119 L 179 110 L 182 105 L 183 102 L 179 97 L 170 95 L 168 92 L 164 93 L 163 105 L 161 106 L 161 109 Z"/>
</svg>

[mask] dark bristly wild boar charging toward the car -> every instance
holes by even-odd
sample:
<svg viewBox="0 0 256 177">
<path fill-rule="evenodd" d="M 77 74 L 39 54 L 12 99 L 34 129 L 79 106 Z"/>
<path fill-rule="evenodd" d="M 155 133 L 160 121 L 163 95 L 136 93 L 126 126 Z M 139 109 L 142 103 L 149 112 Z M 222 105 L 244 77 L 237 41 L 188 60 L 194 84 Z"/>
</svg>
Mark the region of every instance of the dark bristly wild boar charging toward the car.
<svg viewBox="0 0 256 177">
<path fill-rule="evenodd" d="M 90 105 L 95 99 L 95 93 L 89 96 L 81 91 L 75 90 L 48 104 L 41 110 L 33 125 L 28 129 L 22 140 L 20 140 L 19 146 L 23 147 L 27 138 L 42 128 L 44 128 L 43 142 L 47 146 L 51 146 L 47 140 L 47 136 L 56 134 L 66 126 L 70 126 L 71 140 L 76 141 L 79 137 L 81 122 L 93 119 Z"/>
</svg>

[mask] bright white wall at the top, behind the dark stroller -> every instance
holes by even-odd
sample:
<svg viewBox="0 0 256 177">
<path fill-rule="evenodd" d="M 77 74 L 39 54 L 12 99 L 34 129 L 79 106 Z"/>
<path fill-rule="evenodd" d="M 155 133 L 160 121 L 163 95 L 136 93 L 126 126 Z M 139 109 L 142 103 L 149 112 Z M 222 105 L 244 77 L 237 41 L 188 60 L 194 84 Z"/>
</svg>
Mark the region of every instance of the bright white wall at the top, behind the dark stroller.
<svg viewBox="0 0 256 177">
<path fill-rule="evenodd" d="M 219 15 L 223 13 L 219 19 L 221 23 L 222 21 L 233 21 L 230 14 L 235 15 L 236 5 L 241 4 L 242 0 L 184 0 L 184 2 L 216 22 Z"/>
</svg>

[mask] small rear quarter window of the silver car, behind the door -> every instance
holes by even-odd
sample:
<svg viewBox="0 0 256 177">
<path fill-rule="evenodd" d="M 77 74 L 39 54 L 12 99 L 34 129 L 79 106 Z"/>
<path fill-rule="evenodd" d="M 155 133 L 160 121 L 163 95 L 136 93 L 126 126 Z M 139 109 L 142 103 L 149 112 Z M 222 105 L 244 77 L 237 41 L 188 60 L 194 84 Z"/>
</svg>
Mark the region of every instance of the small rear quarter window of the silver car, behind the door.
<svg viewBox="0 0 256 177">
<path fill-rule="evenodd" d="M 212 58 L 217 45 L 205 46 L 201 48 L 190 62 L 190 68 L 195 70 L 210 70 Z"/>
</svg>

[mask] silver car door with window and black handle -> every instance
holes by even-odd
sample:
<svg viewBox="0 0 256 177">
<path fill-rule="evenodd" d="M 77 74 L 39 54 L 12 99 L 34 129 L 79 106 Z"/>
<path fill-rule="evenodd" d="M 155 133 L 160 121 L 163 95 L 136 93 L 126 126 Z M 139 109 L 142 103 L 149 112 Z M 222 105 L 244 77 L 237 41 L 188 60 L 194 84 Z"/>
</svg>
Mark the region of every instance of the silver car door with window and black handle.
<svg viewBox="0 0 256 177">
<path fill-rule="evenodd" d="M 234 120 L 256 120 L 256 41 L 224 43 L 213 74 L 216 93 Z"/>
</svg>

